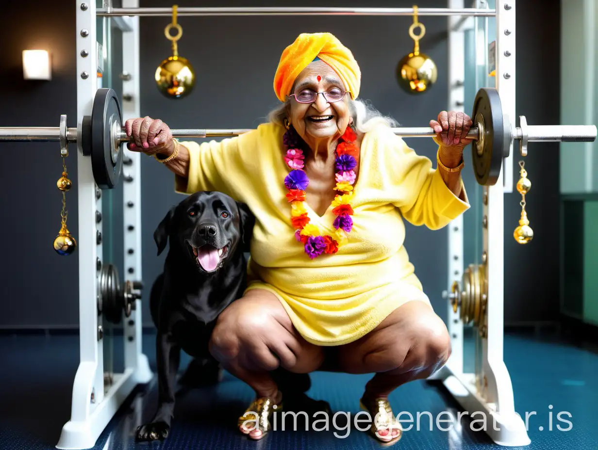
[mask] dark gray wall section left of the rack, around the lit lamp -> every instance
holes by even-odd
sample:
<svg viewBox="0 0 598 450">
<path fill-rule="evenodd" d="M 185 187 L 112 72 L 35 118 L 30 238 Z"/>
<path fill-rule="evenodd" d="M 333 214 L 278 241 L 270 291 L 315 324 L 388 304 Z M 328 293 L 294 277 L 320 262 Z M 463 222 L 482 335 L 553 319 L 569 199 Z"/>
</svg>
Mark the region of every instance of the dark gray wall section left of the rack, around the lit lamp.
<svg viewBox="0 0 598 450">
<path fill-rule="evenodd" d="M 0 38 L 0 124 L 57 127 L 60 114 L 77 126 L 74 2 L 33 0 L 26 9 L 4 8 Z M 51 81 L 23 80 L 22 50 L 41 48 L 52 57 Z M 78 255 L 57 255 L 62 173 L 59 143 L 0 144 L 2 292 L 0 326 L 77 325 Z M 68 228 L 78 235 L 77 155 L 66 158 L 74 187 L 66 195 Z"/>
</svg>

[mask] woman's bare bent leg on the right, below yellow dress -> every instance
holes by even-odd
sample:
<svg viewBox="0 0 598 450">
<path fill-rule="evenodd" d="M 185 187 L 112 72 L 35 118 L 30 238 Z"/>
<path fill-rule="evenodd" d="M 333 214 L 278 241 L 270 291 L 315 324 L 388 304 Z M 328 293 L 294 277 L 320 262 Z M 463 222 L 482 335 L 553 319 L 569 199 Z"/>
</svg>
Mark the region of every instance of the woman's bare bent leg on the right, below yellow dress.
<svg viewBox="0 0 598 450">
<path fill-rule="evenodd" d="M 429 305 L 411 301 L 397 308 L 379 326 L 358 341 L 338 349 L 343 372 L 376 375 L 368 381 L 362 397 L 369 411 L 378 399 L 400 385 L 414 379 L 428 378 L 447 362 L 450 356 L 450 336 L 444 322 Z M 392 436 L 381 432 L 381 440 Z"/>
</svg>

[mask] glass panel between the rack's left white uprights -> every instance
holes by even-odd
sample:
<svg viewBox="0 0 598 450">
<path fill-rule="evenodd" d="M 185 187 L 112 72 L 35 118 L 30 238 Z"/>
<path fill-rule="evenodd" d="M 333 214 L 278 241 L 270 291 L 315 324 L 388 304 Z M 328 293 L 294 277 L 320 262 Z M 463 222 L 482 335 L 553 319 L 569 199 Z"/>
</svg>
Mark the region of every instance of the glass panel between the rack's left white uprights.
<svg viewBox="0 0 598 450">
<path fill-rule="evenodd" d="M 102 0 L 97 0 L 102 7 Z M 116 26 L 115 19 L 97 18 L 97 42 L 101 45 L 98 64 L 98 87 L 111 88 L 117 94 L 122 105 L 123 81 L 120 74 L 123 69 L 122 32 Z M 99 49 L 100 50 L 100 49 Z M 124 282 L 124 223 L 123 223 L 123 181 L 113 189 L 102 191 L 102 265 L 114 266 L 118 274 L 117 289 L 120 292 Z M 104 330 L 104 380 L 108 390 L 114 380 L 114 374 L 124 371 L 123 324 L 115 325 L 102 316 Z"/>
</svg>

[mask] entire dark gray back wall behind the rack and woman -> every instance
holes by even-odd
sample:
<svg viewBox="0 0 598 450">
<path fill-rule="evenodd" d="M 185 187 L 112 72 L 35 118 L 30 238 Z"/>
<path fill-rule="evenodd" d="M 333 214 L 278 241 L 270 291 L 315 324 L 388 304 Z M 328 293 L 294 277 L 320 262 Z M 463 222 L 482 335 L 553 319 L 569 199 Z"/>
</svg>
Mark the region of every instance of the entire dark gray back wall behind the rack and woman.
<svg viewBox="0 0 598 450">
<path fill-rule="evenodd" d="M 39 4 L 37 4 L 39 3 Z M 530 124 L 559 121 L 559 7 L 546 8 L 518 4 L 517 23 L 517 112 L 525 114 Z M 179 6 L 197 5 L 181 1 Z M 274 5 L 276 2 L 261 2 Z M 321 6 L 321 1 L 303 1 L 302 5 Z M 163 1 L 142 1 L 142 6 L 161 6 Z M 243 5 L 242 2 L 202 2 L 203 6 Z M 362 2 L 330 1 L 326 5 L 361 6 Z M 376 5 L 410 7 L 407 1 L 378 1 Z M 445 7 L 444 0 L 426 1 L 419 7 Z M 2 125 L 55 125 L 60 114 L 69 114 L 75 125 L 76 71 L 74 10 L 71 4 L 47 7 L 47 2 L 30 4 L 28 11 L 38 11 L 25 19 L 5 11 L 2 37 Z M 548 14 L 548 16 L 546 16 Z M 181 17 L 184 34 L 179 54 L 193 62 L 197 85 L 186 99 L 161 96 L 153 75 L 160 61 L 169 56 L 170 43 L 164 38 L 167 18 L 141 19 L 141 114 L 161 118 L 172 127 L 251 128 L 264 120 L 277 99 L 272 77 L 278 57 L 300 32 L 328 30 L 348 45 L 362 68 L 361 97 L 390 114 L 404 126 L 422 126 L 446 108 L 447 45 L 446 18 L 424 17 L 426 36 L 422 51 L 438 66 L 439 81 L 428 94 L 414 99 L 399 90 L 395 81 L 398 60 L 413 47 L 407 29 L 409 17 Z M 547 32 L 546 30 L 550 30 Z M 36 40 L 37 39 L 37 40 Z M 51 82 L 26 83 L 20 73 L 23 48 L 48 48 L 54 55 L 54 79 Z M 411 140 L 420 154 L 435 157 L 431 140 Z M 558 222 L 554 207 L 559 197 L 557 145 L 538 143 L 536 152 L 526 160 L 533 192 L 528 211 L 536 237 L 530 246 L 518 246 L 512 240 L 517 225 L 518 194 L 505 197 L 505 320 L 550 320 L 557 316 L 556 293 L 559 292 L 557 236 Z M 60 194 L 54 187 L 60 176 L 61 161 L 57 144 L 5 144 L 2 177 L 5 194 L 2 206 L 5 220 L 0 224 L 5 242 L 10 244 L 3 279 L 4 295 L 0 301 L 0 327 L 7 326 L 77 326 L 78 283 L 77 255 L 60 258 L 51 250 L 51 242 L 60 225 Z M 163 256 L 155 256 L 152 232 L 166 210 L 182 199 L 173 191 L 172 176 L 150 158 L 142 158 L 142 231 L 144 252 L 144 322 L 149 325 L 147 296 L 152 280 L 160 272 Z M 51 169 L 53 168 L 53 169 Z M 71 178 L 76 179 L 74 149 L 68 159 Z M 466 175 L 468 191 L 477 187 Z M 542 200 L 539 200 L 540 193 Z M 76 189 L 69 192 L 69 229 L 77 236 Z M 118 191 L 105 194 L 118 204 Z M 470 214 L 468 212 L 468 214 Z M 468 216 L 469 217 L 469 216 Z M 10 219 L 12 218 L 12 219 Z M 113 235 L 107 238 L 112 258 L 121 266 L 118 234 L 122 218 L 115 214 Z M 106 225 L 105 222 L 105 226 Z M 111 243 L 113 245 L 111 245 Z M 446 230 L 432 232 L 408 226 L 407 249 L 426 292 L 437 311 L 446 310 L 440 294 L 446 289 Z M 105 249 L 105 256 L 108 252 Z M 7 246 L 8 247 L 8 246 Z M 16 247 L 16 249 L 15 249 Z M 536 269 L 537 268 L 537 269 Z M 541 268 L 541 269 L 540 269 Z M 122 268 L 121 268 L 122 273 Z M 554 299 L 554 301 L 553 301 Z"/>
</svg>

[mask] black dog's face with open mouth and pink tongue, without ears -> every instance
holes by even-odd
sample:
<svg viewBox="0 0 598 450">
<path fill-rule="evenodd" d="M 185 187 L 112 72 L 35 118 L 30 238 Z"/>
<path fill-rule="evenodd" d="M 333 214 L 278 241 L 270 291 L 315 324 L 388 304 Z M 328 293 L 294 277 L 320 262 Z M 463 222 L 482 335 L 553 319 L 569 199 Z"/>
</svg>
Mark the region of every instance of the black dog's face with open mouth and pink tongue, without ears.
<svg viewBox="0 0 598 450">
<path fill-rule="evenodd" d="M 200 192 L 182 202 L 178 213 L 181 245 L 200 270 L 217 271 L 242 238 L 236 202 L 219 192 Z"/>
</svg>

